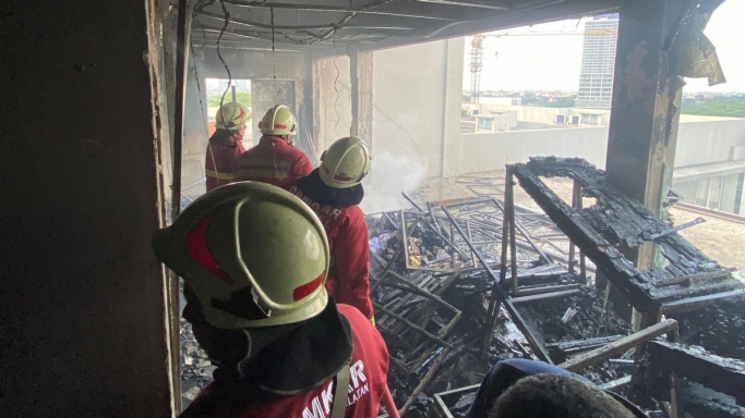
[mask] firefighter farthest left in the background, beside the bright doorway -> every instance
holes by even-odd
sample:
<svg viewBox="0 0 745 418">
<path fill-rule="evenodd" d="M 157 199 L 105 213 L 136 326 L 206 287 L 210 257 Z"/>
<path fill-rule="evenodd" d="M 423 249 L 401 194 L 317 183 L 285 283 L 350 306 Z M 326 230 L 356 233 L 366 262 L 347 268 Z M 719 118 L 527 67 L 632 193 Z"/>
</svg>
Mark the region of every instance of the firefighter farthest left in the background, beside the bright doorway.
<svg viewBox="0 0 745 418">
<path fill-rule="evenodd" d="M 209 137 L 204 171 L 207 192 L 236 181 L 243 148 L 243 135 L 251 119 L 249 109 L 238 102 L 223 104 L 215 113 L 215 133 Z"/>
</svg>

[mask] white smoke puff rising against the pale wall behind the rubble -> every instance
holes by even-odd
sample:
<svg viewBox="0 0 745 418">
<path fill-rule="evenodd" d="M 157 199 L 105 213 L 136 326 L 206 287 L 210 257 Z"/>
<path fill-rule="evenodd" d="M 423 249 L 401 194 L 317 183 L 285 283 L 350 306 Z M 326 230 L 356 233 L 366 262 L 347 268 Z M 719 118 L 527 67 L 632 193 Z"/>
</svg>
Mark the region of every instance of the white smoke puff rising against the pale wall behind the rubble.
<svg viewBox="0 0 745 418">
<path fill-rule="evenodd" d="M 416 156 L 393 155 L 387 150 L 375 153 L 370 175 L 362 183 L 364 199 L 360 208 L 364 213 L 410 208 L 401 192 L 416 190 L 425 172 L 426 167 Z"/>
</svg>

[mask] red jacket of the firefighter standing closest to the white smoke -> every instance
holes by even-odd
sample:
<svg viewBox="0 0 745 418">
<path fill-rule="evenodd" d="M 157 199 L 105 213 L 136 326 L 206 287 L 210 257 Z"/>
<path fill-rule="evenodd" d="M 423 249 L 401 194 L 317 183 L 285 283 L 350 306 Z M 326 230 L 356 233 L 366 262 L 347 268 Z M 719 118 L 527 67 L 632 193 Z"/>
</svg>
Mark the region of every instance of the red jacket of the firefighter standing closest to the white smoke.
<svg viewBox="0 0 745 418">
<path fill-rule="evenodd" d="M 346 199 L 353 201 L 349 206 L 339 201 L 344 199 L 336 195 L 355 190 L 332 189 L 321 182 L 317 170 L 303 179 L 288 182 L 286 188 L 313 209 L 326 229 L 332 254 L 326 290 L 337 303 L 351 305 L 372 318 L 368 223 L 358 206 L 363 194 L 361 186 L 358 197 Z"/>
</svg>

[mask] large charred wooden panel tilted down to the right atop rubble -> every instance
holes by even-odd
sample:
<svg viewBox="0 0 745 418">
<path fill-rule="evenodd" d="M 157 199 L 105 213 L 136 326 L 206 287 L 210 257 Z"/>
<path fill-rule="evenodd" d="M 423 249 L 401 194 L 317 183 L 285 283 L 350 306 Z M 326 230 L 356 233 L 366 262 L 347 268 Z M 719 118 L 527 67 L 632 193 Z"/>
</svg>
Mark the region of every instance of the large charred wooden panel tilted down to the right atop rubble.
<svg viewBox="0 0 745 418">
<path fill-rule="evenodd" d="M 608 182 L 602 170 L 577 158 L 533 157 L 508 165 L 520 186 L 556 225 L 587 255 L 639 311 L 656 311 L 668 300 L 728 292 L 738 286 L 730 270 L 698 248 Z M 590 208 L 572 208 L 539 176 L 569 177 L 594 197 Z M 661 232 L 665 234 L 660 235 Z M 620 248 L 656 238 L 668 259 L 665 269 L 637 270 Z"/>
</svg>

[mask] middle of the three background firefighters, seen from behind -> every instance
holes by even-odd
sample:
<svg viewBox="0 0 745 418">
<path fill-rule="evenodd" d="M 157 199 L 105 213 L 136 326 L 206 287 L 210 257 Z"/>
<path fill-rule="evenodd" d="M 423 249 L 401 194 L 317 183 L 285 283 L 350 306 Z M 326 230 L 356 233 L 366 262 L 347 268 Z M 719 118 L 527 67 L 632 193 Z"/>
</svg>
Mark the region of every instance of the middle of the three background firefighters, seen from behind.
<svg viewBox="0 0 745 418">
<path fill-rule="evenodd" d="M 295 147 L 292 137 L 298 126 L 287 106 L 277 104 L 267 110 L 259 128 L 263 135 L 259 145 L 241 156 L 238 181 L 252 180 L 283 186 L 287 181 L 313 171 L 305 153 Z"/>
</svg>

